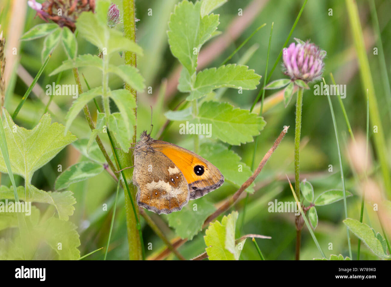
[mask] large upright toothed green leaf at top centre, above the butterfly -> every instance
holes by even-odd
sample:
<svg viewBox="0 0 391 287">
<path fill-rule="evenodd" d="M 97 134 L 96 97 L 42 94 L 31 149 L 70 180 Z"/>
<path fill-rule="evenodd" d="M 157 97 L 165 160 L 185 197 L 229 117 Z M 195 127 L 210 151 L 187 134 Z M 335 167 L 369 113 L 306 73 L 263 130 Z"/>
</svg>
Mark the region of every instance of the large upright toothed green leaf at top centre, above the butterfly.
<svg viewBox="0 0 391 287">
<path fill-rule="evenodd" d="M 170 16 L 169 45 L 172 55 L 192 75 L 197 68 L 197 57 L 201 46 L 212 37 L 219 25 L 219 15 L 201 18 L 201 2 L 193 4 L 183 0 Z"/>
</svg>

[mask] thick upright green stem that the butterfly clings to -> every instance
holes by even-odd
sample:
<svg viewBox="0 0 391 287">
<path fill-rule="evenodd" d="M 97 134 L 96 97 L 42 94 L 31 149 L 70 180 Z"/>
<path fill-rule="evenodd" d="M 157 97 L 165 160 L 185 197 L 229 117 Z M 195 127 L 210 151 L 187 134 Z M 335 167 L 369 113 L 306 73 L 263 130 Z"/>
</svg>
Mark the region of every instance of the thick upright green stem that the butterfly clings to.
<svg viewBox="0 0 391 287">
<path fill-rule="evenodd" d="M 135 0 L 123 0 L 123 15 L 124 15 L 124 37 L 129 40 L 136 42 L 136 22 L 135 22 Z M 125 64 L 136 67 L 136 53 L 126 51 L 125 53 Z M 126 89 L 131 92 L 135 101 L 137 103 L 137 92 L 132 89 L 129 85 L 126 84 Z M 134 109 L 137 123 L 137 107 Z M 137 137 L 137 124 L 133 127 L 133 143 L 136 142 Z M 109 134 L 109 133 L 108 133 Z M 133 149 L 129 150 L 128 153 L 118 150 L 118 152 L 113 149 L 117 157 L 118 164 L 120 169 L 126 166 L 133 166 L 134 155 Z M 138 209 L 134 206 L 136 201 L 136 192 L 133 182 L 131 181 L 131 176 L 133 172 L 130 169 L 125 169 L 121 172 L 124 177 L 126 189 L 128 196 L 125 194 L 125 209 L 126 209 L 126 225 L 127 225 L 127 236 L 129 242 L 129 258 L 134 260 L 139 260 L 144 257 L 144 248 L 142 242 L 142 234 L 140 230 L 140 224 L 138 223 L 139 212 Z M 130 185 L 130 189 L 129 189 Z M 130 191 L 131 190 L 131 191 Z M 133 209 L 133 212 L 132 210 Z"/>
</svg>

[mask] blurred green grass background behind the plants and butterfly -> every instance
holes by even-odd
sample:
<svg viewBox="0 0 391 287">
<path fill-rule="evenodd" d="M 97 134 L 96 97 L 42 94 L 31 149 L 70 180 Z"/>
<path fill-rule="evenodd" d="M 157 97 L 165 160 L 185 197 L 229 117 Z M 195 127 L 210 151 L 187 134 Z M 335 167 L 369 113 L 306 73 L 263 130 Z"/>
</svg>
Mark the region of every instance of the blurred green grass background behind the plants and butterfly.
<svg viewBox="0 0 391 287">
<path fill-rule="evenodd" d="M 119 5 L 122 11 L 122 1 L 114 1 Z M 174 9 L 177 0 L 164 1 L 136 1 L 136 17 L 140 19 L 137 22 L 137 42 L 144 50 L 144 56 L 138 58 L 137 64 L 143 77 L 146 79 L 146 86 L 152 87 L 152 94 L 138 94 L 138 133 L 143 129 L 149 130 L 151 120 L 151 110 L 149 105 L 153 107 L 153 131 L 152 137 L 158 133 L 166 119 L 164 112 L 174 109 L 181 100 L 185 98 L 185 94 L 181 94 L 175 87 L 175 71 L 179 66 L 178 61 L 171 55 L 167 42 L 167 22 L 170 13 Z M 204 45 L 201 49 L 206 51 L 202 56 L 207 56 L 211 50 L 208 45 L 216 45 L 217 48 L 212 49 L 212 52 L 217 51 L 217 55 L 213 56 L 211 61 L 206 63 L 205 67 L 219 66 L 235 48 L 237 48 L 257 27 L 266 23 L 267 25 L 260 29 L 248 43 L 236 53 L 230 62 L 235 63 L 242 61 L 244 57 L 248 57 L 247 65 L 262 75 L 261 83 L 264 80 L 267 46 L 269 42 L 269 34 L 272 22 L 274 22 L 273 38 L 271 43 L 271 55 L 269 62 L 269 71 L 278 57 L 278 53 L 283 47 L 289 31 L 300 11 L 303 1 L 301 0 L 229 0 L 228 4 L 223 5 L 215 13 L 220 14 L 219 30 L 228 39 L 226 48 L 219 50 L 218 41 L 222 43 L 222 38 L 216 37 Z M 373 29 L 373 17 L 368 1 L 357 1 L 361 19 L 361 25 L 364 30 L 364 38 L 367 46 L 369 64 L 375 84 L 375 93 L 380 109 L 380 117 L 384 127 L 384 133 L 387 141 L 387 151 L 389 153 L 388 162 L 391 162 L 391 137 L 389 135 L 390 127 L 390 109 L 389 102 L 391 98 L 382 78 L 380 64 L 383 59 L 380 55 L 373 54 L 373 48 L 377 46 L 377 34 Z M 13 27 L 10 27 L 11 13 L 7 5 L 11 5 L 9 0 L 1 1 L 3 9 L 2 29 L 12 33 Z M 26 7 L 21 10 L 26 10 L 25 19 L 20 19 L 21 25 L 24 25 L 23 32 L 43 21 L 35 17 L 35 11 Z M 376 0 L 376 11 L 381 31 L 382 46 L 386 56 L 387 72 L 389 71 L 390 53 L 391 53 L 391 14 L 389 13 L 391 1 Z M 148 9 L 152 9 L 152 16 L 148 16 Z M 243 9 L 243 16 L 238 16 L 238 9 Z M 332 9 L 332 16 L 329 16 L 329 9 Z M 122 12 L 121 12 L 122 16 Z M 25 23 L 23 24 L 23 21 Z M 238 37 L 226 36 L 228 31 L 241 29 Z M 122 29 L 121 24 L 118 29 Z M 5 34 L 7 35 L 7 34 Z M 222 36 L 220 36 L 222 37 Z M 343 99 L 348 118 L 355 134 L 365 133 L 366 130 L 366 95 L 363 94 L 362 83 L 360 80 L 357 58 L 354 49 L 348 13 L 344 1 L 331 0 L 319 1 L 309 0 L 300 21 L 294 30 L 289 43 L 294 41 L 293 37 L 303 40 L 310 39 L 312 42 L 319 45 L 323 50 L 326 50 L 327 56 L 325 59 L 324 77 L 328 84 L 331 83 L 330 72 L 333 73 L 337 84 L 346 84 L 346 98 Z M 230 40 L 231 39 L 231 40 Z M 97 49 L 88 42 L 77 37 L 78 53 L 97 54 Z M 215 44 L 215 41 L 217 41 Z M 20 102 L 21 97 L 25 93 L 30 82 L 30 77 L 35 77 L 41 67 L 40 53 L 42 50 L 43 39 L 36 39 L 30 42 L 16 43 L 20 44 L 18 54 L 15 59 L 7 59 L 8 62 L 16 62 L 20 60 L 20 66 L 23 69 L 17 69 L 17 77 L 15 77 L 14 91 L 7 95 L 5 107 L 8 111 L 14 111 L 16 105 Z M 200 55 L 201 57 L 201 55 Z M 53 71 L 62 61 L 66 59 L 66 55 L 62 48 L 57 47 L 52 55 L 52 59 L 48 63 L 47 68 L 38 81 L 39 86 L 45 89 L 46 84 L 52 83 L 57 76 L 48 77 L 48 74 Z M 122 63 L 124 61 L 119 55 L 112 60 L 114 63 Z M 276 70 L 271 77 L 271 80 L 284 78 L 281 69 L 281 61 L 278 63 Z M 27 73 L 26 73 L 27 72 Z M 80 70 L 91 87 L 99 85 L 100 74 L 93 69 L 83 68 Z M 174 79 L 174 80 L 173 80 Z M 30 80 L 31 81 L 31 80 Z M 165 95 L 159 96 L 159 90 L 167 81 L 167 91 Z M 26 84 L 27 82 L 27 84 Z M 74 84 L 74 78 L 71 71 L 63 74 L 60 84 Z M 83 83 L 84 84 L 84 83 Z M 118 78 L 110 78 L 111 89 L 120 88 L 122 82 Z M 261 85 L 260 85 L 261 86 Z M 260 87 L 259 86 L 259 87 Z M 86 89 L 86 86 L 83 86 Z M 34 91 L 37 91 L 36 89 Z M 38 90 L 39 91 L 39 90 Z M 146 90 L 147 91 L 147 90 Z M 275 91 L 268 90 L 265 94 L 267 101 Z M 230 102 L 236 107 L 249 109 L 254 101 L 257 91 L 243 91 L 243 94 L 238 94 L 235 89 L 228 89 L 222 94 L 222 100 Z M 16 123 L 25 128 L 34 127 L 41 117 L 45 105 L 39 100 L 39 97 L 48 97 L 45 94 L 32 93 L 23 105 Z M 276 137 L 280 134 L 284 125 L 291 126 L 285 139 L 280 144 L 279 148 L 274 152 L 269 162 L 260 175 L 256 178 L 256 192 L 249 197 L 246 220 L 242 234 L 262 234 L 269 235 L 272 239 L 258 239 L 258 245 L 262 250 L 266 259 L 294 259 L 296 229 L 294 226 L 293 214 L 285 213 L 269 213 L 267 211 L 269 201 L 294 201 L 291 190 L 287 183 L 285 174 L 289 175 L 292 180 L 293 176 L 293 139 L 294 139 L 294 120 L 295 120 L 295 97 L 288 105 L 284 107 L 282 102 L 270 103 L 265 106 L 264 118 L 267 122 L 266 127 L 261 132 L 258 141 L 258 149 L 256 152 L 255 162 L 258 164 L 265 152 L 272 146 Z M 388 97 L 388 98 L 387 98 Z M 353 197 L 348 198 L 348 216 L 359 219 L 361 207 L 361 195 L 359 194 L 359 185 L 355 181 L 347 158 L 347 142 L 349 135 L 347 133 L 346 123 L 337 99 L 332 98 L 334 110 L 337 119 L 341 139 L 341 149 L 343 152 L 344 174 L 346 176 L 346 189 L 353 193 Z M 55 96 L 53 102 L 54 108 L 50 109 L 50 114 L 53 121 L 65 123 L 65 114 L 68 111 L 72 98 Z M 258 108 L 258 109 L 257 109 Z M 259 107 L 255 112 L 259 111 Z M 90 105 L 91 113 L 96 118 L 96 109 Z M 113 107 L 114 109 L 114 107 Z M 300 158 L 301 178 L 307 178 L 314 186 L 315 197 L 321 192 L 331 188 L 342 188 L 339 172 L 339 161 L 337 155 L 337 146 L 335 143 L 335 134 L 330 115 L 326 96 L 315 96 L 313 89 L 305 91 L 303 99 L 303 114 L 302 114 L 302 152 Z M 82 114 L 74 121 L 70 128 L 73 134 L 79 139 L 88 138 L 90 130 Z M 179 122 L 174 122 L 165 131 L 163 140 L 178 144 L 192 149 L 189 143 L 188 135 L 179 134 Z M 369 140 L 371 142 L 373 133 L 369 129 Z M 204 139 L 205 140 L 205 139 Z M 207 140 L 207 139 L 206 139 Z M 303 144 L 305 143 L 305 144 Z M 106 143 L 107 144 L 107 143 Z M 251 167 L 253 157 L 254 143 L 244 144 L 242 146 L 234 146 L 233 150 L 242 157 L 242 161 Z M 370 152 L 373 150 L 370 147 Z M 37 171 L 32 179 L 32 184 L 46 191 L 52 190 L 54 181 L 58 176 L 57 165 L 62 164 L 64 167 L 74 164 L 78 160 L 82 160 L 80 155 L 73 146 L 68 146 L 62 150 L 54 159 L 46 166 Z M 333 171 L 328 171 L 328 166 L 333 165 Z M 375 175 L 373 179 L 379 184 L 382 182 L 380 172 L 377 172 L 378 164 L 374 163 Z M 21 178 L 16 178 L 21 184 Z M 2 185 L 11 185 L 7 175 L 2 175 Z M 69 190 L 74 192 L 77 200 L 75 204 L 75 213 L 70 220 L 78 226 L 80 234 L 81 246 L 79 250 L 81 255 L 87 254 L 97 248 L 106 246 L 111 212 L 110 207 L 115 199 L 116 184 L 114 180 L 107 174 L 102 173 L 95 178 L 91 178 L 86 182 L 72 184 Z M 206 197 L 213 203 L 219 203 L 221 200 L 233 194 L 236 187 L 225 183 L 223 187 L 217 189 Z M 108 204 L 109 211 L 102 211 L 102 204 Z M 244 198 L 232 210 L 239 211 L 238 225 L 242 221 L 242 211 Z M 326 256 L 330 254 L 343 254 L 348 256 L 348 245 L 346 240 L 346 227 L 342 223 L 344 219 L 343 201 L 338 201 L 332 205 L 319 207 L 317 209 L 319 216 L 319 224 L 315 230 L 318 241 Z M 165 217 L 157 216 L 148 212 L 148 214 L 156 221 L 170 239 L 176 237 L 174 230 L 167 227 Z M 228 212 L 227 212 L 228 214 Z M 221 219 L 221 217 L 219 217 Z M 108 253 L 108 259 L 126 260 L 128 258 L 127 234 L 126 234 L 126 218 L 124 209 L 124 193 L 120 192 L 119 202 L 117 204 L 117 214 L 111 244 Z M 145 221 L 141 219 L 143 226 L 143 236 L 145 245 L 152 242 L 153 249 L 146 250 L 147 257 L 156 255 L 165 246 L 163 242 L 152 232 L 149 226 L 145 225 Z M 377 232 L 380 231 L 376 214 L 372 211 L 371 206 L 366 206 L 364 212 L 364 222 L 370 224 Z M 0 232 L 0 237 L 2 234 Z M 204 252 L 204 231 L 199 232 L 192 241 L 186 242 L 179 248 L 179 251 L 186 257 L 192 258 Z M 351 235 L 353 258 L 356 257 L 357 238 Z M 328 250 L 328 243 L 333 243 L 333 250 Z M 362 244 L 361 259 L 377 259 L 375 255 Z M 102 259 L 103 252 L 97 252 L 86 259 Z M 312 259 L 321 257 L 314 242 L 306 227 L 302 232 L 302 250 L 301 259 Z M 176 258 L 170 255 L 168 258 Z M 242 251 L 241 259 L 259 259 L 259 255 L 253 244 L 248 240 Z"/>
</svg>

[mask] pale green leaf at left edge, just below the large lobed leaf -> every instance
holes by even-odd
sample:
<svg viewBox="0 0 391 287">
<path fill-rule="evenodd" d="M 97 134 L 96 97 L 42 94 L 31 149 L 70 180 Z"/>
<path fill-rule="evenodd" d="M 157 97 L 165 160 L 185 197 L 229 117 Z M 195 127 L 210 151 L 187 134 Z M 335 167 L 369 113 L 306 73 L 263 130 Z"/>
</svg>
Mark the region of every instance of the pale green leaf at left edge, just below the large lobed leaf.
<svg viewBox="0 0 391 287">
<path fill-rule="evenodd" d="M 43 191 L 31 184 L 27 184 L 25 193 L 23 187 L 18 187 L 18 195 L 21 200 L 51 204 L 56 207 L 59 219 L 62 220 L 68 220 L 75 210 L 73 205 L 76 200 L 72 194 L 72 191 Z M 0 199 L 14 199 L 13 189 L 4 185 L 0 186 Z"/>
</svg>

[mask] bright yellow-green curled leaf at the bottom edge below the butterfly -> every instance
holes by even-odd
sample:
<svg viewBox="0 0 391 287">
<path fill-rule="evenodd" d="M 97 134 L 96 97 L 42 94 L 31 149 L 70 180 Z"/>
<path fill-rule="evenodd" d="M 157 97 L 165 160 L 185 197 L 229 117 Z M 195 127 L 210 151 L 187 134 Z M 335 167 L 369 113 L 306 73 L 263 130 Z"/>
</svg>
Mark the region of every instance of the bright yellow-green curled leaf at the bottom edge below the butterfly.
<svg viewBox="0 0 391 287">
<path fill-rule="evenodd" d="M 235 227 L 239 216 L 237 211 L 215 221 L 205 231 L 206 253 L 209 260 L 239 260 L 240 251 L 235 244 Z"/>
</svg>

